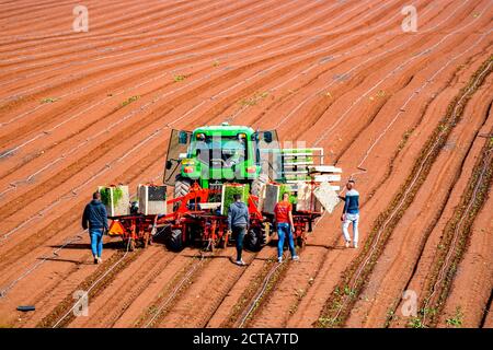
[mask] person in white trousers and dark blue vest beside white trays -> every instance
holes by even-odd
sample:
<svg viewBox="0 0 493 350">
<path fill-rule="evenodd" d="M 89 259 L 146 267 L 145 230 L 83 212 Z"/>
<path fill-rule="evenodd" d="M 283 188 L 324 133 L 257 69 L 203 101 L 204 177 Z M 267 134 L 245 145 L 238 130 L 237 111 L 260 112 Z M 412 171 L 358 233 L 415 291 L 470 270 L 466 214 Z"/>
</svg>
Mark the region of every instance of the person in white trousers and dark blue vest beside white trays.
<svg viewBox="0 0 493 350">
<path fill-rule="evenodd" d="M 346 196 L 340 196 L 344 200 L 344 211 L 341 215 L 341 221 L 343 222 L 342 229 L 346 248 L 351 246 L 349 224 L 353 224 L 353 247 L 358 247 L 359 192 L 354 187 L 355 182 L 349 179 L 346 184 Z"/>
</svg>

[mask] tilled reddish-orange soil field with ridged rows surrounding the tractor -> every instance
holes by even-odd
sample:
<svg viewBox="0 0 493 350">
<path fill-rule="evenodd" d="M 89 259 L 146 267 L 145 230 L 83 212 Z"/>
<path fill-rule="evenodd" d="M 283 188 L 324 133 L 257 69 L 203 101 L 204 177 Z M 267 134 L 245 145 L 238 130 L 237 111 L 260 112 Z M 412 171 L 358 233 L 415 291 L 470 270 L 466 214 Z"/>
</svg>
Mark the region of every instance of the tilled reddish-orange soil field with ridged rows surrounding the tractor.
<svg viewBox="0 0 493 350">
<path fill-rule="evenodd" d="M 415 33 L 401 0 L 93 0 L 87 33 L 77 4 L 1 2 L 0 327 L 493 326 L 491 0 L 415 0 Z M 360 247 L 335 213 L 300 262 L 107 238 L 94 266 L 96 186 L 160 182 L 171 129 L 221 121 L 323 147 Z"/>
</svg>

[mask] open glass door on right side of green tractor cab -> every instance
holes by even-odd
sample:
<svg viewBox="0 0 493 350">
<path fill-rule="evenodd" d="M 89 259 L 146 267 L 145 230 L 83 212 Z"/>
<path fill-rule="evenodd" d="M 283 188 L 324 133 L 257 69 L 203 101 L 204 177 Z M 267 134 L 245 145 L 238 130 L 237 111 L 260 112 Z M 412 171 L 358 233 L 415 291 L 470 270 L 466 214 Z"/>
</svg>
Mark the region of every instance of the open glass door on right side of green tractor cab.
<svg viewBox="0 0 493 350">
<path fill-rule="evenodd" d="M 280 180 L 283 178 L 283 159 L 277 131 L 257 131 L 256 139 L 256 156 L 262 166 L 262 173 L 267 174 L 271 180 Z"/>
</svg>

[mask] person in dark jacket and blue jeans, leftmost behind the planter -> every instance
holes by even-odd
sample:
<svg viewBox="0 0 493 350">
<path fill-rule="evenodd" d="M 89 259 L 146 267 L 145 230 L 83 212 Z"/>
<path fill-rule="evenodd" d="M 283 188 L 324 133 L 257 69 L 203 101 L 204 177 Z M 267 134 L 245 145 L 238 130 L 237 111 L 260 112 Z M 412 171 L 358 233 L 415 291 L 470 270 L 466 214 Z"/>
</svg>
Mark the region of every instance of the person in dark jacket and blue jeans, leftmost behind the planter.
<svg viewBox="0 0 493 350">
<path fill-rule="evenodd" d="M 103 234 L 108 230 L 106 207 L 101 201 L 101 194 L 94 192 L 92 200 L 85 206 L 82 214 L 82 228 L 89 229 L 91 237 L 91 250 L 94 264 L 103 262 Z"/>
</svg>

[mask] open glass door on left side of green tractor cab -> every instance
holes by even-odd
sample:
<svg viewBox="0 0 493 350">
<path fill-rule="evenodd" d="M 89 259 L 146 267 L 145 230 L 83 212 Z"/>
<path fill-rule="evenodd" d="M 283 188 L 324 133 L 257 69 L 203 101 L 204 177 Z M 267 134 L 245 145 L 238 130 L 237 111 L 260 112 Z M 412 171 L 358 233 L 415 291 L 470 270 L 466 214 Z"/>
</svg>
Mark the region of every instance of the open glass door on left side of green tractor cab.
<svg viewBox="0 0 493 350">
<path fill-rule="evenodd" d="M 186 156 L 192 132 L 184 130 L 171 130 L 170 142 L 168 145 L 167 162 L 164 165 L 163 183 L 174 186 L 176 175 L 180 174 L 180 160 Z"/>
</svg>

